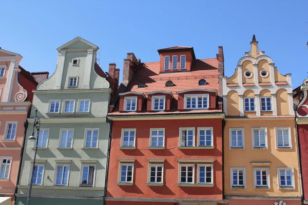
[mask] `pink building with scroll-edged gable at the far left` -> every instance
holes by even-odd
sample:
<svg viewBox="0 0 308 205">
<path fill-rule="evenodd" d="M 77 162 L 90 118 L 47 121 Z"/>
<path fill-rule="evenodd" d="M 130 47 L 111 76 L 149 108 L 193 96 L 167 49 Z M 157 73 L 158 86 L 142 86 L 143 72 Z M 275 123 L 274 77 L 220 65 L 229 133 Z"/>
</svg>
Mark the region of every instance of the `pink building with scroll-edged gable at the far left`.
<svg viewBox="0 0 308 205">
<path fill-rule="evenodd" d="M 21 59 L 19 54 L 0 49 L 0 195 L 11 197 L 12 204 L 32 90 L 36 80 L 48 75 L 27 72 L 19 66 Z"/>
</svg>

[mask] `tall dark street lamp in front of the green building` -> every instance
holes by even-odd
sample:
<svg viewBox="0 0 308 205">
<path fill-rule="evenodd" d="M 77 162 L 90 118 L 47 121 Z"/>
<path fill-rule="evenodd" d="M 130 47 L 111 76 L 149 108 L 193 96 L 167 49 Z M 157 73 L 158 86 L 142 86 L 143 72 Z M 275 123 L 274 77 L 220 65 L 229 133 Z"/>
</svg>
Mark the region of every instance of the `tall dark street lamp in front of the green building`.
<svg viewBox="0 0 308 205">
<path fill-rule="evenodd" d="M 31 197 L 31 191 L 32 191 L 32 184 L 33 184 L 33 175 L 34 175 L 34 169 L 35 169 L 35 159 L 36 159 L 36 152 L 37 152 L 37 142 L 38 142 L 38 135 L 40 134 L 40 125 L 41 121 L 40 118 L 37 117 L 37 109 L 35 109 L 35 118 L 33 121 L 33 129 L 31 136 L 28 138 L 30 141 L 35 141 L 35 152 L 34 152 L 34 159 L 33 159 L 33 167 L 32 167 L 32 174 L 31 174 L 31 180 L 30 180 L 30 186 L 29 186 L 29 193 L 28 193 L 28 199 L 27 199 L 27 205 L 30 205 L 30 197 Z M 34 128 L 36 129 L 37 132 L 37 139 L 34 136 Z"/>
</svg>

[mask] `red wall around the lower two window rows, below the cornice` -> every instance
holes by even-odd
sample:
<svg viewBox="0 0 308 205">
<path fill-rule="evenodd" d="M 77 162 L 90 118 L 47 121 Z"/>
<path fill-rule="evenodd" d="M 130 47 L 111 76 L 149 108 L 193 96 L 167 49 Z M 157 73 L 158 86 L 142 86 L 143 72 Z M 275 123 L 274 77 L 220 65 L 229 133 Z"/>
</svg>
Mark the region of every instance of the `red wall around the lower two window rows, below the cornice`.
<svg viewBox="0 0 308 205">
<path fill-rule="evenodd" d="M 213 127 L 215 149 L 178 149 L 179 128 Z M 136 128 L 136 149 L 120 150 L 121 129 Z M 149 150 L 150 128 L 165 128 L 163 150 Z M 196 198 L 222 199 L 222 120 L 221 119 L 177 119 L 177 120 L 126 120 L 113 121 L 107 197 L 130 198 Z M 136 159 L 134 162 L 133 186 L 118 186 L 119 160 Z M 164 161 L 164 183 L 162 187 L 148 187 L 147 159 L 160 158 Z M 178 187 L 179 158 L 202 158 L 214 161 L 214 187 Z M 197 163 L 196 163 L 197 164 Z M 195 168 L 195 176 L 197 169 Z M 195 179 L 196 181 L 196 179 Z M 110 204 L 110 202 L 108 202 Z M 120 203 L 119 203 L 120 204 Z M 121 202 L 121 204 L 124 204 Z M 133 203 L 134 204 L 134 203 Z"/>
</svg>

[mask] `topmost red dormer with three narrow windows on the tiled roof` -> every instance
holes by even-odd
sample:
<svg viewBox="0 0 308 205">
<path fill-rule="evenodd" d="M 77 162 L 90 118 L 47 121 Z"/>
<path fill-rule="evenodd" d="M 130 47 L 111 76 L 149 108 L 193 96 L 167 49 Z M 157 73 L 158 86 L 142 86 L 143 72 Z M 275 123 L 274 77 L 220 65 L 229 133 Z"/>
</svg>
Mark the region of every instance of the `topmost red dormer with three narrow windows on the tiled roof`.
<svg viewBox="0 0 308 205">
<path fill-rule="evenodd" d="M 158 49 L 160 72 L 190 71 L 192 60 L 196 59 L 194 48 L 175 46 Z"/>
</svg>

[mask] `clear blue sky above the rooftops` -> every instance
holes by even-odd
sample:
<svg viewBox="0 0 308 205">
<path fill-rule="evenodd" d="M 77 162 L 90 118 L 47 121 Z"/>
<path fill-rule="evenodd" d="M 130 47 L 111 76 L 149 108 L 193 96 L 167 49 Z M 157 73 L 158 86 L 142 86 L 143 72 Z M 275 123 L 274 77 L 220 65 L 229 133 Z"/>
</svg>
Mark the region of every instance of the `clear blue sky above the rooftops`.
<svg viewBox="0 0 308 205">
<path fill-rule="evenodd" d="M 261 51 L 293 88 L 308 72 L 308 1 L 305 0 L 1 0 L 0 47 L 23 56 L 28 71 L 55 70 L 56 48 L 80 36 L 100 47 L 101 67 L 121 69 L 127 52 L 158 61 L 157 49 L 192 46 L 213 58 L 223 46 L 225 75 L 249 51 L 255 34 Z"/>
</svg>

